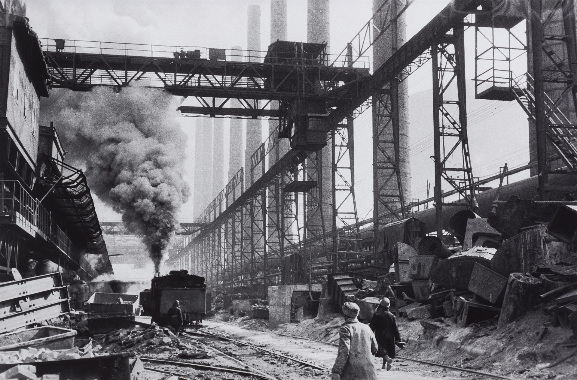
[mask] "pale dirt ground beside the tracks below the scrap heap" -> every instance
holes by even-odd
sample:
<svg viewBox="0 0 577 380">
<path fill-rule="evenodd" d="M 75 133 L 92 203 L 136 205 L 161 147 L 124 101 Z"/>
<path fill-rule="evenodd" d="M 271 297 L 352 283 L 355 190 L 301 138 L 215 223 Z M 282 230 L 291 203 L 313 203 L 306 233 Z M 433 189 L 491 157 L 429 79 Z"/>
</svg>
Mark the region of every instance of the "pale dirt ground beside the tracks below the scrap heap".
<svg viewBox="0 0 577 380">
<path fill-rule="evenodd" d="M 220 329 L 223 329 L 223 326 L 238 326 L 252 329 L 253 332 L 255 329 L 270 331 L 264 320 L 245 318 L 228 320 L 229 318 L 228 315 L 219 313 L 215 315 L 212 323 L 217 323 Z M 226 322 L 223 323 L 223 320 Z M 343 321 L 341 315 L 331 314 L 322 320 L 316 318 L 306 319 L 300 323 L 287 323 L 279 326 L 276 332 L 336 344 L 339 327 Z M 550 318 L 540 310 L 530 311 L 503 329 L 497 329 L 496 320 L 467 328 L 455 326 L 449 318 L 436 324 L 441 327 L 425 330 L 418 320 L 399 318 L 401 336 L 403 340 L 409 341 L 409 344 L 400 350 L 398 355 L 514 379 L 577 379 L 577 353 L 553 367 L 545 368 L 574 353 L 577 350 L 577 339 L 571 330 L 551 326 Z M 284 338 L 287 337 L 278 334 L 273 336 L 271 338 L 273 342 L 268 344 L 271 344 L 271 347 L 282 347 Z M 278 340 L 278 343 L 274 340 Z M 331 351 L 329 346 L 325 346 L 325 349 Z M 332 350 L 336 355 L 336 348 Z M 333 361 L 334 357 L 332 356 Z M 325 364 L 327 367 L 332 365 L 328 362 Z M 417 364 L 409 360 L 397 360 L 395 370 L 403 371 L 403 379 L 408 373 L 431 378 L 488 378 Z"/>
</svg>

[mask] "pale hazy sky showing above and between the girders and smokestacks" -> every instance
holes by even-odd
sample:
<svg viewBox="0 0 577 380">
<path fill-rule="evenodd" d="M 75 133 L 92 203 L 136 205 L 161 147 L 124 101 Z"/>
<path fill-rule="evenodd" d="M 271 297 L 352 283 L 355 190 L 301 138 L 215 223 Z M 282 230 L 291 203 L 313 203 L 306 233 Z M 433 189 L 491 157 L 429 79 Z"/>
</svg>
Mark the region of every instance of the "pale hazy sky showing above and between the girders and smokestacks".
<svg viewBox="0 0 577 380">
<path fill-rule="evenodd" d="M 246 12 L 261 7 L 262 50 L 269 43 L 269 1 L 245 0 L 28 0 L 27 16 L 40 37 L 96 40 L 171 46 L 246 47 Z M 288 40 L 306 39 L 306 0 L 288 0 Z M 447 0 L 417 0 L 407 10 L 407 35 L 414 35 L 437 14 Z M 342 50 L 372 15 L 372 1 L 331 0 L 331 52 Z M 467 79 L 474 77 L 474 32 L 467 31 Z M 426 182 L 433 180 L 432 103 L 430 65 L 409 78 L 409 119 L 413 198 L 426 198 Z M 469 85 L 469 136 L 475 176 L 528 161 L 526 115 L 514 102 L 474 100 Z M 186 179 L 193 182 L 193 118 L 179 118 L 189 136 Z M 225 122 L 225 126 L 227 126 Z M 264 122 L 265 129 L 268 123 Z M 226 137 L 228 144 L 228 136 Z M 227 145 L 228 146 L 228 145 Z M 359 216 L 372 209 L 372 153 L 370 111 L 355 121 L 357 201 Z M 225 161 L 225 172 L 228 160 Z M 524 176 L 524 175 L 522 175 Z M 432 194 L 432 193 L 431 193 Z M 97 201 L 101 220 L 115 217 Z M 192 217 L 192 200 L 183 206 L 182 218 Z"/>
</svg>

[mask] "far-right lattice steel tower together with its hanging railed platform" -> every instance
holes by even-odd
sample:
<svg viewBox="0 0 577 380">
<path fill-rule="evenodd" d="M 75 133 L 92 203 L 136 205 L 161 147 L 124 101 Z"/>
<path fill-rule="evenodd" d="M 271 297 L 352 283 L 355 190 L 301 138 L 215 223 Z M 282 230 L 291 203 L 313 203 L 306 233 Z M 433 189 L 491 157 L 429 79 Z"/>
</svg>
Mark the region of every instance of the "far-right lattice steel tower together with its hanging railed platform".
<svg viewBox="0 0 577 380">
<path fill-rule="evenodd" d="M 535 139 L 530 159 L 537 164 L 532 175 L 539 176 L 539 197 L 547 200 L 554 191 L 574 191 L 550 186 L 551 174 L 577 174 L 575 4 L 573 0 L 531 0 L 516 7 L 520 9 L 508 10 L 499 19 L 475 21 L 475 93 L 481 99 L 516 100 L 529 116 L 530 136 L 533 127 Z M 516 36 L 511 29 L 526 14 L 531 15 L 527 36 L 520 36 L 520 31 Z M 498 43 L 495 35 L 504 33 L 507 43 Z M 483 42 L 489 47 L 479 48 Z M 524 58 L 527 51 L 529 67 L 515 73 L 512 62 Z"/>
</svg>

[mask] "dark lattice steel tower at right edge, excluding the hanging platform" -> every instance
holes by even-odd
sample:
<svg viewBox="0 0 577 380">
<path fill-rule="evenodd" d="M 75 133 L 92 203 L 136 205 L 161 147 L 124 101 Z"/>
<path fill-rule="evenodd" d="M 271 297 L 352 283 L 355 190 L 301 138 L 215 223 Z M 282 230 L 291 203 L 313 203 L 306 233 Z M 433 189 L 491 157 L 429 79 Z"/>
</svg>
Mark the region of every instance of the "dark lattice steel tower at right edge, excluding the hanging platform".
<svg viewBox="0 0 577 380">
<path fill-rule="evenodd" d="M 552 7 L 541 0 L 531 0 L 530 10 L 533 78 L 527 75 L 523 95 L 529 106 L 525 110 L 534 119 L 537 130 L 539 197 L 547 200 L 551 191 L 574 191 L 549 186 L 550 174 L 577 174 L 575 6 L 572 0 L 559 0 Z M 562 20 L 563 28 L 552 25 L 553 20 L 558 23 Z M 551 84 L 561 88 L 546 92 Z M 547 149 L 551 145 L 565 168 L 561 168 L 562 165 L 552 167 Z"/>
</svg>

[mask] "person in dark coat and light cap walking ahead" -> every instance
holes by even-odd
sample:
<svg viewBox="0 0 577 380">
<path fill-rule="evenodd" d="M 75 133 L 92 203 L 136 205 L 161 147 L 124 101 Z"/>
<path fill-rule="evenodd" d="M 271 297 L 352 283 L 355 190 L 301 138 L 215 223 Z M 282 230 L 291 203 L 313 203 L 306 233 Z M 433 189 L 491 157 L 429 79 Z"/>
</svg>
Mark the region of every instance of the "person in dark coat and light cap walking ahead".
<svg viewBox="0 0 577 380">
<path fill-rule="evenodd" d="M 383 298 L 369 323 L 379 343 L 379 350 L 375 356 L 383 358 L 382 368 L 383 370 L 386 368 L 387 371 L 391 370 L 391 364 L 395 358 L 395 344 L 400 348 L 406 344 L 401 341 L 395 315 L 389 311 L 390 304 L 391 301 L 387 297 Z"/>
</svg>

